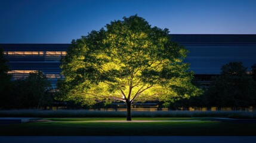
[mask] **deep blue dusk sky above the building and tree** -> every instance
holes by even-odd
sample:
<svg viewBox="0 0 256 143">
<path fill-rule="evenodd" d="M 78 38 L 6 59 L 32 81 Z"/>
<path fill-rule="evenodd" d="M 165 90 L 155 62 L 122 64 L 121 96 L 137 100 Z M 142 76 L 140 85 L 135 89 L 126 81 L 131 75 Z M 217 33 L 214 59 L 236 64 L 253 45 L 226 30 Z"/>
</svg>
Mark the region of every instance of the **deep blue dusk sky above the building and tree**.
<svg viewBox="0 0 256 143">
<path fill-rule="evenodd" d="M 256 33 L 256 0 L 0 0 L 0 43 L 70 43 L 134 14 L 172 34 Z"/>
</svg>

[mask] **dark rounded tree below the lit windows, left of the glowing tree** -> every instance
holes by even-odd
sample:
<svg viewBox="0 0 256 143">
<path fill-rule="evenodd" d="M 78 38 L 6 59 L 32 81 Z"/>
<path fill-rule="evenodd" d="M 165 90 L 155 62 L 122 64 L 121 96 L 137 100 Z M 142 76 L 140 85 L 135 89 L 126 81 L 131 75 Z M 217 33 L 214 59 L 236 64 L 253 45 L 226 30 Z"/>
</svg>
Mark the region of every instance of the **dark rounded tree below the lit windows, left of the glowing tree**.
<svg viewBox="0 0 256 143">
<path fill-rule="evenodd" d="M 14 96 L 18 98 L 18 108 L 39 108 L 51 105 L 51 83 L 42 71 L 29 73 L 25 79 L 14 81 Z"/>
</svg>

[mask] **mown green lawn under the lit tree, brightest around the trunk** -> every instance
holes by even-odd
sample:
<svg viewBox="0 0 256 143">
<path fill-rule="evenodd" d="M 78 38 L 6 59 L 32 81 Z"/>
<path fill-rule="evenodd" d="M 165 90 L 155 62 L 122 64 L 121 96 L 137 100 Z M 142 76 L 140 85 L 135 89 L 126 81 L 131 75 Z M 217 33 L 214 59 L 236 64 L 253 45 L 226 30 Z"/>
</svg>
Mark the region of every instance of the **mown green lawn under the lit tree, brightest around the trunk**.
<svg viewBox="0 0 256 143">
<path fill-rule="evenodd" d="M 0 135 L 256 135 L 255 123 L 223 123 L 204 118 L 132 118 L 132 120 L 200 120 L 195 122 L 82 122 L 125 118 L 49 118 L 58 122 L 0 125 Z"/>
</svg>

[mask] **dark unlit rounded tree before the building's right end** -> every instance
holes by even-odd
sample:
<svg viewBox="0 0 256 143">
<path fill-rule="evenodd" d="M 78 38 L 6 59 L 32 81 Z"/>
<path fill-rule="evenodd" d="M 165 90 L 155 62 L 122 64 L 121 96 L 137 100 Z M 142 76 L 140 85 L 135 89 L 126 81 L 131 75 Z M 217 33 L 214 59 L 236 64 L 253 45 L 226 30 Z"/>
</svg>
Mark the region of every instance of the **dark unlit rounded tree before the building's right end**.
<svg viewBox="0 0 256 143">
<path fill-rule="evenodd" d="M 255 82 L 240 62 L 230 62 L 221 68 L 221 74 L 212 79 L 207 94 L 211 105 L 219 107 L 249 107 L 254 104 Z"/>
</svg>

